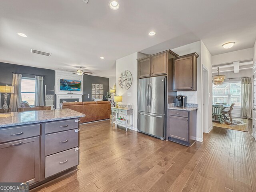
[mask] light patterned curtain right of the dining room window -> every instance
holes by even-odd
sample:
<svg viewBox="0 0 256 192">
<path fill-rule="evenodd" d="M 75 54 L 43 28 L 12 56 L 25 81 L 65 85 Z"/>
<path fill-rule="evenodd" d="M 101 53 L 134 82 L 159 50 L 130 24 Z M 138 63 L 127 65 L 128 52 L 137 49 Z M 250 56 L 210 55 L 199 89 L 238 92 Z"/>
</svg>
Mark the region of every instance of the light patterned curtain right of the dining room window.
<svg viewBox="0 0 256 192">
<path fill-rule="evenodd" d="M 241 114 L 240 118 L 252 119 L 252 78 L 241 79 Z"/>
</svg>

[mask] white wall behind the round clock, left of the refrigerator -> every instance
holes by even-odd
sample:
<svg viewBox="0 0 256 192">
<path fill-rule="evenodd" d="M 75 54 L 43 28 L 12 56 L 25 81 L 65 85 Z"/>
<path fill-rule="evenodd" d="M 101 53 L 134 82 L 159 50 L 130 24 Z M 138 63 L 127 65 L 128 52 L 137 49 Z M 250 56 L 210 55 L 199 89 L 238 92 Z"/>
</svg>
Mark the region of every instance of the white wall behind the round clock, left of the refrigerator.
<svg viewBox="0 0 256 192">
<path fill-rule="evenodd" d="M 122 103 L 130 103 L 133 108 L 133 130 L 137 130 L 137 58 L 138 53 L 133 53 L 123 58 L 116 60 L 116 94 L 122 96 Z M 122 71 L 128 70 L 132 74 L 132 85 L 128 90 L 123 90 L 118 84 L 118 78 Z M 127 96 L 130 92 L 131 96 Z"/>
</svg>

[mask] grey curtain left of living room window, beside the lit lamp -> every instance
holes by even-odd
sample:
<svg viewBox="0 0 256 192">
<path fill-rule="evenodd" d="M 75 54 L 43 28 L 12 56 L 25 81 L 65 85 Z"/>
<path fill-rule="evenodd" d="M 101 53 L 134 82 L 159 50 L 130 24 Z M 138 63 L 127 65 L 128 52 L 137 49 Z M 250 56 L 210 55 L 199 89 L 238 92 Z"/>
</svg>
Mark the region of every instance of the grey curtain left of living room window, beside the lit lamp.
<svg viewBox="0 0 256 192">
<path fill-rule="evenodd" d="M 17 112 L 21 99 L 21 79 L 22 74 L 13 74 L 12 76 L 12 86 L 14 86 L 14 93 L 11 94 L 10 105 L 12 112 Z"/>
</svg>

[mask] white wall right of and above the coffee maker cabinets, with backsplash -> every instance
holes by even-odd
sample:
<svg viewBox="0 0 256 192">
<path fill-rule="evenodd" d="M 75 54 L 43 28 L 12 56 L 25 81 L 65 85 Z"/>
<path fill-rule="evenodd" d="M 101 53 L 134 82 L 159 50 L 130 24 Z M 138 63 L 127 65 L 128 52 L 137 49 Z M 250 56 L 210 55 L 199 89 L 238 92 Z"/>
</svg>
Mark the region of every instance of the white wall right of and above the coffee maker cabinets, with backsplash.
<svg viewBox="0 0 256 192">
<path fill-rule="evenodd" d="M 178 55 L 186 55 L 193 52 L 197 52 L 199 57 L 197 58 L 197 91 L 193 94 L 191 91 L 183 91 L 184 95 L 188 95 L 188 100 L 195 100 L 198 104 L 198 110 L 196 113 L 196 140 L 203 141 L 203 126 L 202 126 L 202 41 L 197 41 L 188 45 L 184 45 L 178 48 L 172 49 L 173 52 Z M 179 94 L 178 92 L 177 94 Z"/>
</svg>

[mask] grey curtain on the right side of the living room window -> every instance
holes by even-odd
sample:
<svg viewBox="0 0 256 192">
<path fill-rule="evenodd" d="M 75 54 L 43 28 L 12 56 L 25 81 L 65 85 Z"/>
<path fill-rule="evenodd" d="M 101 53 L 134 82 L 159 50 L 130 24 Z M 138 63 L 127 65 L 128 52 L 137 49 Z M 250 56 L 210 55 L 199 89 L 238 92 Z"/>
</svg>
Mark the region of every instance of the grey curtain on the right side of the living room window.
<svg viewBox="0 0 256 192">
<path fill-rule="evenodd" d="M 35 106 L 44 106 L 44 77 L 36 76 Z"/>
</svg>

